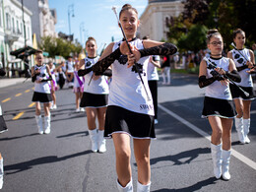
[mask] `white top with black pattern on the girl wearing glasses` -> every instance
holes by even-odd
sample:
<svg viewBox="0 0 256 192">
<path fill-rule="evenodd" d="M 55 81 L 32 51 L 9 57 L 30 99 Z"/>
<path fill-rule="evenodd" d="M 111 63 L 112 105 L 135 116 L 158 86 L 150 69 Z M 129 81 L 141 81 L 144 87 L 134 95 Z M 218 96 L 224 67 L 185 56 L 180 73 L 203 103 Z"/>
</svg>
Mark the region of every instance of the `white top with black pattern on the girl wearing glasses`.
<svg viewBox="0 0 256 192">
<path fill-rule="evenodd" d="M 226 57 L 222 57 L 220 59 L 214 59 L 212 57 L 208 58 L 216 67 L 223 68 L 224 71 L 228 71 L 229 67 L 229 59 Z M 207 61 L 206 61 L 207 62 Z M 209 69 L 209 64 L 207 62 L 207 78 L 213 77 L 211 74 L 211 71 L 214 69 Z M 221 98 L 226 100 L 231 100 L 232 96 L 229 90 L 229 84 L 228 85 L 222 85 L 221 82 L 215 81 L 213 84 L 206 87 L 206 93 L 205 96 L 215 97 L 215 98 Z"/>
</svg>

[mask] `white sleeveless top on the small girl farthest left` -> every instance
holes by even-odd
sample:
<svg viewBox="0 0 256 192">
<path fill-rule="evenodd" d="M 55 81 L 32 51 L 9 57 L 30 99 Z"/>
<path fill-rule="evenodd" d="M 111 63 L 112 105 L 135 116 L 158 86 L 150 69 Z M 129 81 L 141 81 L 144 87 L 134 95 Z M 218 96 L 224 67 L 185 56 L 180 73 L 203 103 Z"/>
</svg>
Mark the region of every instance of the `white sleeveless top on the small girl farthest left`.
<svg viewBox="0 0 256 192">
<path fill-rule="evenodd" d="M 34 65 L 34 71 L 35 70 L 40 70 L 40 74 L 36 76 L 36 80 L 42 78 L 42 79 L 47 79 L 48 78 L 48 73 L 46 70 L 46 65 L 43 64 L 41 66 Z M 37 93 L 42 93 L 42 94 L 50 94 L 50 82 L 42 82 L 42 83 L 36 83 L 34 82 L 34 92 Z"/>
</svg>

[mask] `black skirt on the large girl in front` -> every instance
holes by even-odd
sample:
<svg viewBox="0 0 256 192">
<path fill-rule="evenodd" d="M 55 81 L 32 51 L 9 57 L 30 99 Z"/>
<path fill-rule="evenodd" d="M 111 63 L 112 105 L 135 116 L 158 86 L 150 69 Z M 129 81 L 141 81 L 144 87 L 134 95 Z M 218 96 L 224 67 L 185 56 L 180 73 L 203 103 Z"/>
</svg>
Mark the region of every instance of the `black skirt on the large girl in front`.
<svg viewBox="0 0 256 192">
<path fill-rule="evenodd" d="M 127 133 L 134 139 L 156 139 L 154 116 L 107 106 L 104 137 L 111 138 L 113 133 Z"/>
</svg>

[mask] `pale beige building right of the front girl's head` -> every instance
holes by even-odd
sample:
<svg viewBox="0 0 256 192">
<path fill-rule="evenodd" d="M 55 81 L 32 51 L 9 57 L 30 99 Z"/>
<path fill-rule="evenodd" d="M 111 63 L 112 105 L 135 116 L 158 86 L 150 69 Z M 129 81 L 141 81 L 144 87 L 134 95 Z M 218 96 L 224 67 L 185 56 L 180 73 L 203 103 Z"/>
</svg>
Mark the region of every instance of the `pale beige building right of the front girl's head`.
<svg viewBox="0 0 256 192">
<path fill-rule="evenodd" d="M 183 11 L 182 0 L 149 0 L 140 17 L 141 25 L 137 36 L 150 36 L 153 40 L 166 40 L 173 17 Z"/>
</svg>

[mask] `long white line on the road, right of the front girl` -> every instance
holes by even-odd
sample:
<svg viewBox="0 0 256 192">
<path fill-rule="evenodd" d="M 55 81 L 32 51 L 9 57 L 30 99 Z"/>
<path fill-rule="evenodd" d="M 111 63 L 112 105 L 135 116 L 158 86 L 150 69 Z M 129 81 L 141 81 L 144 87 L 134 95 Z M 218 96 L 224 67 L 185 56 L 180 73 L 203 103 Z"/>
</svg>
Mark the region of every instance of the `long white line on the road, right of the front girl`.
<svg viewBox="0 0 256 192">
<path fill-rule="evenodd" d="M 175 114 L 174 112 L 170 111 L 169 109 L 167 109 L 166 107 L 162 106 L 161 104 L 159 104 L 159 107 L 160 107 L 161 110 L 165 111 L 167 114 L 169 114 L 173 118 L 177 119 L 178 121 L 180 121 L 181 123 L 186 125 L 188 128 L 190 128 L 193 131 L 197 132 L 199 135 L 205 137 L 206 139 L 208 139 L 211 142 L 211 136 L 208 133 L 202 131 L 200 128 L 196 127 L 192 123 L 190 123 L 187 120 L 183 119 L 182 117 L 178 116 L 177 114 Z M 247 164 L 248 166 L 250 166 L 254 170 L 256 170 L 256 162 L 255 161 L 246 158 L 245 156 L 243 156 L 239 152 L 236 152 L 233 149 L 231 149 L 231 154 L 236 159 L 241 160 L 242 162 L 244 162 L 245 164 Z"/>
</svg>

